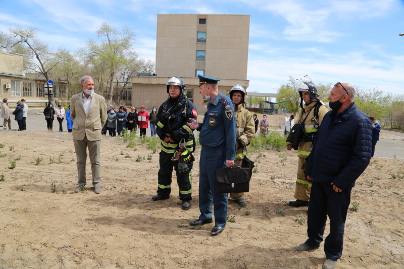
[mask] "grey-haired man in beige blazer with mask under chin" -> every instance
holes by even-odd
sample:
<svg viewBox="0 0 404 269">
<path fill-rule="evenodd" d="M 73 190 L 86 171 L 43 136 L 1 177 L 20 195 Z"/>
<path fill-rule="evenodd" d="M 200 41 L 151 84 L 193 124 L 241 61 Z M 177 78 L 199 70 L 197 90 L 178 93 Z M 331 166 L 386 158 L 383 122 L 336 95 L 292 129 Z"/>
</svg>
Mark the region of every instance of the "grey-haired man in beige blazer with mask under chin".
<svg viewBox="0 0 404 269">
<path fill-rule="evenodd" d="M 70 116 L 73 120 L 73 144 L 77 157 L 78 186 L 74 192 L 80 192 L 86 184 L 85 164 L 90 156 L 92 185 L 94 192 L 101 192 L 101 168 L 99 152 L 101 147 L 101 129 L 107 121 L 105 98 L 94 93 L 94 80 L 90 76 L 81 78 L 83 92 L 72 96 Z"/>
</svg>

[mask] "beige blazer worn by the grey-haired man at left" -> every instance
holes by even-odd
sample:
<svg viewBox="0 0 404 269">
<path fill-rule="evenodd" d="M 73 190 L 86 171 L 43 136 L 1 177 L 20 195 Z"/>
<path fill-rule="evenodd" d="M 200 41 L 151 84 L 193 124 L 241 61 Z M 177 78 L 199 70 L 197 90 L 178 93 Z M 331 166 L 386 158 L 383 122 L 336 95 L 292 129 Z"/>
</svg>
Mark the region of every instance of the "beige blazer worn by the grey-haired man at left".
<svg viewBox="0 0 404 269">
<path fill-rule="evenodd" d="M 70 100 L 70 117 L 73 120 L 73 139 L 83 140 L 86 135 L 89 141 L 101 140 L 101 129 L 107 121 L 105 98 L 94 92 L 86 115 L 83 92 L 73 95 Z"/>
</svg>

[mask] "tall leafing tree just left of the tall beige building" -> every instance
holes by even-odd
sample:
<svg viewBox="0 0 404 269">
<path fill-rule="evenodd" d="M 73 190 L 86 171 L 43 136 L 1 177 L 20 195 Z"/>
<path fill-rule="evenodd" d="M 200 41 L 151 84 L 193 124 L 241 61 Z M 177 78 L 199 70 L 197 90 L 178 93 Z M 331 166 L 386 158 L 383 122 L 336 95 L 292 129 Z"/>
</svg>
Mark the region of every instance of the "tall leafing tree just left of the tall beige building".
<svg viewBox="0 0 404 269">
<path fill-rule="evenodd" d="M 104 81 L 105 75 L 103 73 L 107 75 L 109 102 L 111 103 L 117 67 L 125 65 L 125 56 L 132 51 L 135 34 L 129 28 L 118 31 L 106 22 L 98 28 L 96 33 L 99 41 L 88 40 L 86 47 L 81 49 L 81 54 L 96 69 L 98 83 Z"/>
</svg>

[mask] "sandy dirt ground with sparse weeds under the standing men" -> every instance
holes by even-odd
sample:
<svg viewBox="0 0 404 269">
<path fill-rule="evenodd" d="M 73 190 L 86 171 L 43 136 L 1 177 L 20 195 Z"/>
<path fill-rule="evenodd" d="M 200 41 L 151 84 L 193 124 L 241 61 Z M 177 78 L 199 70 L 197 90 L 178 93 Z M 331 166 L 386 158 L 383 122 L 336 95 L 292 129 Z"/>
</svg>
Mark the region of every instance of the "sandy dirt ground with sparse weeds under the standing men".
<svg viewBox="0 0 404 269">
<path fill-rule="evenodd" d="M 153 154 L 145 144 L 134 151 L 120 139 L 103 137 L 102 193 L 94 194 L 88 185 L 73 193 L 77 169 L 70 134 L 2 131 L 0 143 L 0 268 L 321 268 L 324 261 L 322 247 L 295 250 L 307 239 L 307 208 L 286 205 L 293 200 L 295 151 L 251 153 L 257 171 L 247 205 L 230 201 L 234 222 L 211 236 L 213 224 L 188 226 L 199 216 L 200 148 L 192 207 L 183 211 L 175 180 L 170 199 L 151 201 L 159 151 Z M 136 162 L 138 155 L 145 159 Z M 403 177 L 402 159 L 371 160 L 352 190 L 359 207 L 348 211 L 338 268 L 403 268 Z"/>
</svg>

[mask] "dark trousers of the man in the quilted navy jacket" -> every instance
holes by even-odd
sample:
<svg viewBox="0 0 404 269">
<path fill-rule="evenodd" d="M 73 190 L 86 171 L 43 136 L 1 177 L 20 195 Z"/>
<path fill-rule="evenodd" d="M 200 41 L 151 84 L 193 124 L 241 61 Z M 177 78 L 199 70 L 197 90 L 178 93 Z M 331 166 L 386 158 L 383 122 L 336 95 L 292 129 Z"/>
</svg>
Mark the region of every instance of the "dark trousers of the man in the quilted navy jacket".
<svg viewBox="0 0 404 269">
<path fill-rule="evenodd" d="M 315 182 L 309 201 L 306 243 L 318 247 L 323 241 L 327 216 L 330 218 L 330 233 L 324 241 L 327 259 L 337 260 L 342 256 L 346 214 L 350 204 L 351 186 L 335 192 L 330 182 Z"/>
</svg>

